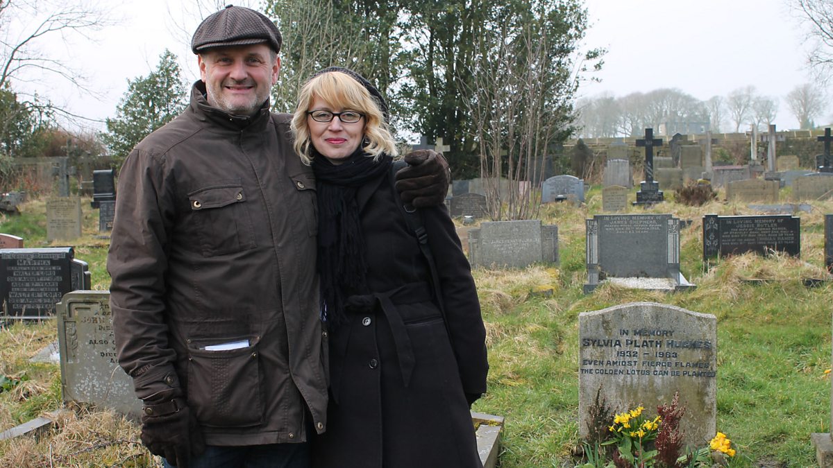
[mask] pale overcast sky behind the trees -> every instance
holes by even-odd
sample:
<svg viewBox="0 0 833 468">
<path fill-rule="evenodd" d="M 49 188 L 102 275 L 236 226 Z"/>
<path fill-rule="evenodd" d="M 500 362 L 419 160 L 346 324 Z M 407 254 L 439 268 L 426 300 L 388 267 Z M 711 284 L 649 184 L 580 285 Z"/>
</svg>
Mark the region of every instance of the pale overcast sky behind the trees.
<svg viewBox="0 0 833 468">
<path fill-rule="evenodd" d="M 760 94 L 779 99 L 779 129 L 796 127 L 784 97 L 810 79 L 805 68 L 808 45 L 806 33 L 786 2 L 586 0 L 591 17 L 586 47 L 606 47 L 608 52 L 602 71 L 596 74 L 601 82 L 588 83 L 581 95 L 612 92 L 623 97 L 675 87 L 706 100 L 752 85 Z M 67 47 L 59 47 L 63 56 L 91 77 L 101 99 L 52 83 L 30 86 L 72 112 L 103 120 L 115 116 L 117 103 L 127 91 L 127 79 L 147 75 L 165 47 L 182 57 L 186 76 L 196 79 L 196 58 L 188 40 L 200 15 L 183 13 L 193 3 L 111 0 L 116 26 L 96 32 L 97 43 L 76 38 Z M 177 27 L 184 27 L 187 34 L 177 32 Z M 831 108 L 819 120 L 833 120 Z"/>
</svg>

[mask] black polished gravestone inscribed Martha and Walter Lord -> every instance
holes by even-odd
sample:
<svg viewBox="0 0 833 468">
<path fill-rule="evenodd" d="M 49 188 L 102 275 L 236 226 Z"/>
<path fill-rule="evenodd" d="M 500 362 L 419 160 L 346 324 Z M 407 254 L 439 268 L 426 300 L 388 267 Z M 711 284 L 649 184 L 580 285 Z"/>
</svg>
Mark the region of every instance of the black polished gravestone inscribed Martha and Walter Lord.
<svg viewBox="0 0 833 468">
<path fill-rule="evenodd" d="M 2 318 L 52 318 L 64 294 L 90 289 L 87 262 L 74 256 L 72 247 L 0 249 Z"/>
</svg>

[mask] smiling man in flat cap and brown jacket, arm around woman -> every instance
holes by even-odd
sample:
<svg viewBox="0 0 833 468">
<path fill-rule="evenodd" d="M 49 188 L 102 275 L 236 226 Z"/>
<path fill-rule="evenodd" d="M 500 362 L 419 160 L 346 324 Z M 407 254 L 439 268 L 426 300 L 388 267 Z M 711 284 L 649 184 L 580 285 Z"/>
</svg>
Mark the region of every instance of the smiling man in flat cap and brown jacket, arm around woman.
<svg viewBox="0 0 833 468">
<path fill-rule="evenodd" d="M 144 402 L 142 442 L 166 466 L 308 464 L 327 429 L 316 195 L 269 112 L 281 34 L 226 7 L 192 38 L 202 79 L 182 115 L 119 177 L 107 269 L 119 363 Z M 447 189 L 436 154 L 397 174 L 402 198 Z M 410 174 L 408 174 L 410 172 Z"/>
</svg>

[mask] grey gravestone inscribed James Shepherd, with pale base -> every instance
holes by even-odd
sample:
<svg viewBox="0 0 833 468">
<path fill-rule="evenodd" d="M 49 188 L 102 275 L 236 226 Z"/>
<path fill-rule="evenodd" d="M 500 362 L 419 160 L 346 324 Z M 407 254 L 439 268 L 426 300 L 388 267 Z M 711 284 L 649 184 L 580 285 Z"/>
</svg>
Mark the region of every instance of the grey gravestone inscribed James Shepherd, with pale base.
<svg viewBox="0 0 833 468">
<path fill-rule="evenodd" d="M 596 215 L 586 223 L 587 283 L 674 291 L 694 287 L 680 271 L 680 220 L 667 214 Z"/>
</svg>

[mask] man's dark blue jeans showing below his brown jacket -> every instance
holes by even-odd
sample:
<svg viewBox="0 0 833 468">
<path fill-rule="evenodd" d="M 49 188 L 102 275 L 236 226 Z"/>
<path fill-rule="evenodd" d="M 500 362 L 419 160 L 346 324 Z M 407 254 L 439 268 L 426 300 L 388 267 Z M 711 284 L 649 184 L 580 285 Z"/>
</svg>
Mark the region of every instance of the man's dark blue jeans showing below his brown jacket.
<svg viewBox="0 0 833 468">
<path fill-rule="evenodd" d="M 173 468 L 162 459 L 165 468 Z M 188 468 L 309 468 L 310 444 L 270 444 L 267 446 L 206 446 Z"/>
</svg>

